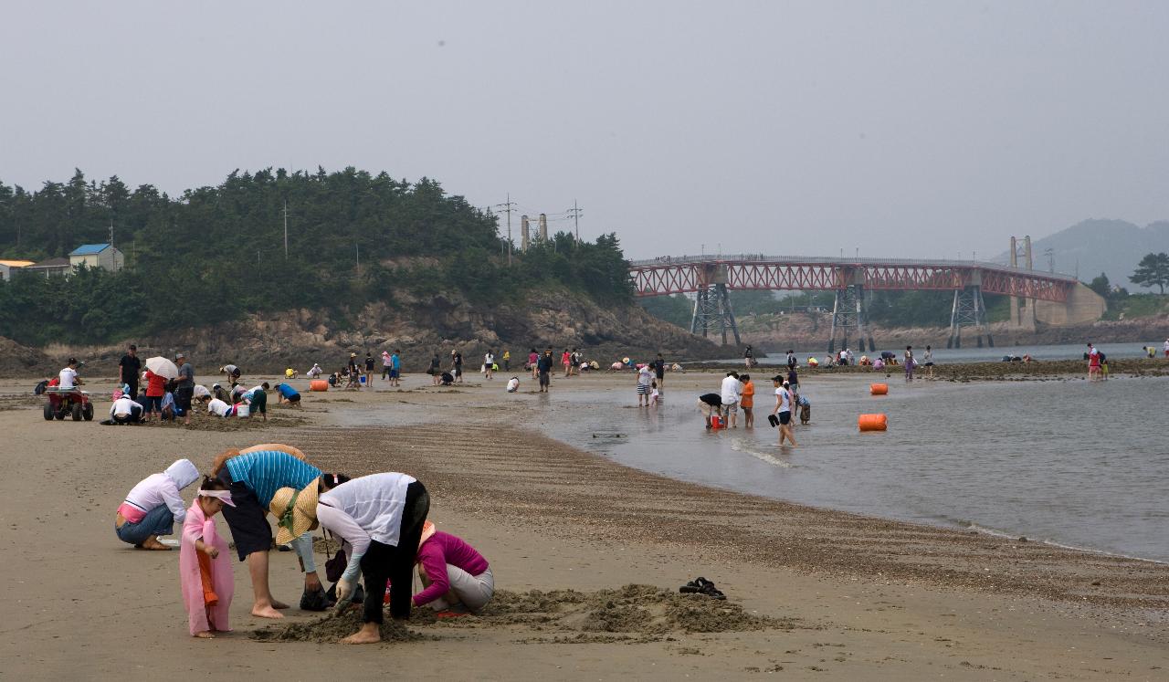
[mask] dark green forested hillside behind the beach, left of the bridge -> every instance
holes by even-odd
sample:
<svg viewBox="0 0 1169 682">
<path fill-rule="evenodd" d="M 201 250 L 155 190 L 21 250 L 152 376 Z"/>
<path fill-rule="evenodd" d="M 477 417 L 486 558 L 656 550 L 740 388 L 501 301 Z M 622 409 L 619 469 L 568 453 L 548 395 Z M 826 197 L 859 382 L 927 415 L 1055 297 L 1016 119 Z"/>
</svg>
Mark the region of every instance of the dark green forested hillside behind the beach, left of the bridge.
<svg viewBox="0 0 1169 682">
<path fill-rule="evenodd" d="M 631 301 L 615 235 L 577 243 L 558 234 L 509 265 L 497 222 L 434 180 L 354 168 L 236 172 L 178 197 L 81 170 L 35 192 L 0 182 L 0 257 L 65 256 L 109 242 L 112 223 L 126 263 L 117 273 L 14 274 L 0 284 L 0 336 L 102 343 L 292 308 L 344 323 L 395 292 L 454 292 L 477 307 L 546 287 Z"/>
</svg>

